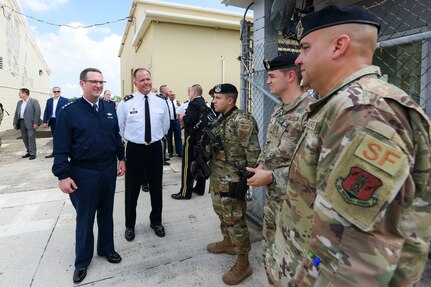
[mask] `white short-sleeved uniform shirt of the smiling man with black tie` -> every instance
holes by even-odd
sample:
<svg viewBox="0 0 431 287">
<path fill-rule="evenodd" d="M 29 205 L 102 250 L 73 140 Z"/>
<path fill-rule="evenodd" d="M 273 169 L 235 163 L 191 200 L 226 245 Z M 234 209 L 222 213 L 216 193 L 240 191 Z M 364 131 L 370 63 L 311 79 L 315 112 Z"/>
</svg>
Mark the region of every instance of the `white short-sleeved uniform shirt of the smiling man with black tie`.
<svg viewBox="0 0 431 287">
<path fill-rule="evenodd" d="M 148 94 L 151 122 L 151 142 L 159 141 L 168 133 L 169 110 L 165 100 L 150 92 Z M 137 144 L 145 143 L 145 98 L 140 92 L 133 98 L 118 104 L 118 125 L 123 139 Z"/>
</svg>

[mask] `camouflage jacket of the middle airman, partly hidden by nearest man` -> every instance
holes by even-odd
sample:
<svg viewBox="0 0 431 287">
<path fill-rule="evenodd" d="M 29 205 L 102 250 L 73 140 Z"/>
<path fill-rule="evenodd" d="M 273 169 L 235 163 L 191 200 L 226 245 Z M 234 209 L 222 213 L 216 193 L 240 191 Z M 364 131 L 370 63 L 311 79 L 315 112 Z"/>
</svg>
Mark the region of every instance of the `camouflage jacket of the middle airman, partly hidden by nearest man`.
<svg viewBox="0 0 431 287">
<path fill-rule="evenodd" d="M 273 195 L 286 192 L 290 160 L 304 130 L 308 106 L 313 101 L 310 93 L 305 92 L 292 103 L 277 105 L 271 115 L 265 147 L 257 163 L 273 171 L 275 182 L 268 186 Z"/>
</svg>

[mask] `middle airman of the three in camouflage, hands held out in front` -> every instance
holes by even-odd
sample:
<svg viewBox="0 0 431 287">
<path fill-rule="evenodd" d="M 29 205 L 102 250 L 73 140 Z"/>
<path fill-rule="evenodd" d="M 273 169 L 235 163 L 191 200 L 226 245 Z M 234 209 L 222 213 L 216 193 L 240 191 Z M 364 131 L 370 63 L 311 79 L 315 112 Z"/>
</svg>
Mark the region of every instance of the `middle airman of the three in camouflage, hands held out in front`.
<svg viewBox="0 0 431 287">
<path fill-rule="evenodd" d="M 267 84 L 271 93 L 281 99 L 271 116 L 266 144 L 258 159 L 258 167 L 247 168 L 255 175 L 248 179 L 250 186 L 266 186 L 263 218 L 263 258 L 268 281 L 276 283 L 277 266 L 274 259 L 275 218 L 279 214 L 282 198 L 287 189 L 287 173 L 296 144 L 304 130 L 308 106 L 314 101 L 311 92 L 303 92 L 301 71 L 295 65 L 297 53 L 288 53 L 264 60 L 268 71 Z"/>
</svg>

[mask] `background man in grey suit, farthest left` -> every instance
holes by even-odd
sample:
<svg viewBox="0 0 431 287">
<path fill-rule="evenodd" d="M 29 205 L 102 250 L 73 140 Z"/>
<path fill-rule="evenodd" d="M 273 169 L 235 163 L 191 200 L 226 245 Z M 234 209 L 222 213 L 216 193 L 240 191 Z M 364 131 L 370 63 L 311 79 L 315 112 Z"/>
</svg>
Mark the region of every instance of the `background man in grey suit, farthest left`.
<svg viewBox="0 0 431 287">
<path fill-rule="evenodd" d="M 21 129 L 22 140 L 27 153 L 22 158 L 36 158 L 36 129 L 40 126 L 40 105 L 36 99 L 30 98 L 30 91 L 22 88 L 18 93 L 21 100 L 16 104 L 13 127 Z"/>
</svg>

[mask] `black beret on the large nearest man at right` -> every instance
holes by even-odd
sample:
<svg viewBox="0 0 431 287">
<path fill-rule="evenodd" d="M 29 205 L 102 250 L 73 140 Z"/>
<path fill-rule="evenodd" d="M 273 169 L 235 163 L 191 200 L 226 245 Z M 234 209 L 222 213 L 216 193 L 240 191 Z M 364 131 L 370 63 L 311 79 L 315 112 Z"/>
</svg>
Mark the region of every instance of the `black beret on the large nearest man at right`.
<svg viewBox="0 0 431 287">
<path fill-rule="evenodd" d="M 299 41 L 313 31 L 350 23 L 375 26 L 380 31 L 379 19 L 368 10 L 358 6 L 328 5 L 301 18 L 296 27 L 297 38 Z"/>
</svg>

